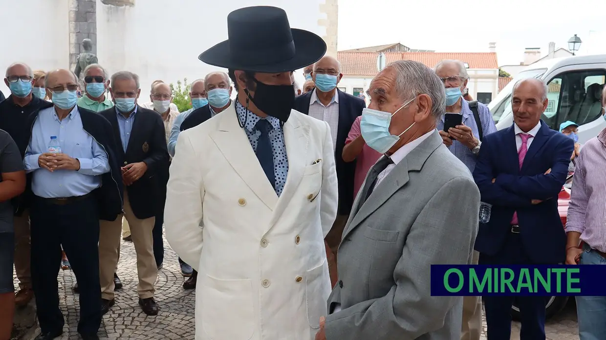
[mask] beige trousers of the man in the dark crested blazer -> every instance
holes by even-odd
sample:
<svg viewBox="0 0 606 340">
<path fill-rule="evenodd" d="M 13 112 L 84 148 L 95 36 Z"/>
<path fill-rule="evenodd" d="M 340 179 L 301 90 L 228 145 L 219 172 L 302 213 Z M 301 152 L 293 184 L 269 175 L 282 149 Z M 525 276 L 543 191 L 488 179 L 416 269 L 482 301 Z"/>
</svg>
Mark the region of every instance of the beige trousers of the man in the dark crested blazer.
<svg viewBox="0 0 606 340">
<path fill-rule="evenodd" d="M 158 278 L 158 267 L 153 257 L 153 230 L 155 217 L 139 220 L 133 214 L 128 201 L 128 194 L 124 191 L 124 217 L 130 224 L 130 232 L 137 255 L 137 273 L 139 284 L 137 292 L 139 298 L 152 298 L 155 292 L 154 284 Z M 114 298 L 113 274 L 119 258 L 119 248 L 122 230 L 122 215 L 115 221 L 100 221 L 99 230 L 99 278 L 101 280 L 101 298 L 111 300 Z"/>
</svg>

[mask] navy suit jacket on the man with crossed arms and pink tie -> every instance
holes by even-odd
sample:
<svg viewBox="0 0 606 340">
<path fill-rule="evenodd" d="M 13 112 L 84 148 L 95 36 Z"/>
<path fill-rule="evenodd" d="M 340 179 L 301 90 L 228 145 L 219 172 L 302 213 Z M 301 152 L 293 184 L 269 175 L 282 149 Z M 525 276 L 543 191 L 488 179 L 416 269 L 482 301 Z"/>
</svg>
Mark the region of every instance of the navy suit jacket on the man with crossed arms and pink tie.
<svg viewBox="0 0 606 340">
<path fill-rule="evenodd" d="M 484 136 L 473 178 L 482 202 L 492 204 L 492 211 L 490 221 L 479 226 L 476 250 L 496 255 L 511 232 L 511 218 L 517 211 L 522 243 L 531 261 L 565 261 L 566 234 L 558 213 L 558 194 L 566 181 L 573 150 L 572 139 L 541 120 L 541 128 L 519 169 L 513 125 Z M 551 172 L 545 175 L 548 169 Z M 531 204 L 531 200 L 542 203 Z"/>
</svg>

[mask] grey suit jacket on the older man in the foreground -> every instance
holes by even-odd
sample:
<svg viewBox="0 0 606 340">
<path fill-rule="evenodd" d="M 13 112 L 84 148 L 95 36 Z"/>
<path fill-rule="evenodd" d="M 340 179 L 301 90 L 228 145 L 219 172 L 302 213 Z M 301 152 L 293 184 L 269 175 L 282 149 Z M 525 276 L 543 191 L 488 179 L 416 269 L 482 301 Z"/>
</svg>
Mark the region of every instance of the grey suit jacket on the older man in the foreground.
<svg viewBox="0 0 606 340">
<path fill-rule="evenodd" d="M 480 193 L 469 170 L 436 130 L 359 206 L 366 194 L 339 246 L 327 340 L 459 339 L 463 299 L 430 295 L 430 265 L 471 264 Z"/>
</svg>

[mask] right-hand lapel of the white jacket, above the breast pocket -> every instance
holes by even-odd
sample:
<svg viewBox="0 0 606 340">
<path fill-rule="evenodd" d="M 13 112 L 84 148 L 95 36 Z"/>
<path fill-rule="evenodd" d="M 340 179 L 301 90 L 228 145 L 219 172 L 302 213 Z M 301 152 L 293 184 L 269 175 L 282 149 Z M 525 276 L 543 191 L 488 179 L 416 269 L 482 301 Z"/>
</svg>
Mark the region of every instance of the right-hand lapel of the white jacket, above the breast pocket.
<svg viewBox="0 0 606 340">
<path fill-rule="evenodd" d="M 301 125 L 299 119 L 291 114 L 290 118 L 284 124 L 283 129 L 286 155 L 288 157 L 288 174 L 286 176 L 284 190 L 282 190 L 282 194 L 278 199 L 278 204 L 276 205 L 273 218 L 268 224 L 268 229 L 276 223 L 282 212 L 284 212 L 288 206 L 288 203 L 290 203 L 291 198 L 295 195 L 295 192 L 303 179 L 305 167 L 311 165 L 305 163 L 309 146 L 309 126 Z M 265 230 L 265 232 L 267 232 L 267 230 Z"/>
</svg>

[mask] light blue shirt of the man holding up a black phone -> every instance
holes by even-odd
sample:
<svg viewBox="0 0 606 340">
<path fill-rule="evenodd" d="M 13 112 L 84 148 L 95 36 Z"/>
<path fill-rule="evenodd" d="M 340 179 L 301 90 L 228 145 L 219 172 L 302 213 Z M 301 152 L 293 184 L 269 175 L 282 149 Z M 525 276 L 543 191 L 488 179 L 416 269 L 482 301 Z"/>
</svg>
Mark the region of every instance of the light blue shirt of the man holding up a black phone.
<svg viewBox="0 0 606 340">
<path fill-rule="evenodd" d="M 461 114 L 463 115 L 463 125 L 469 126 L 473 136 L 479 140 L 480 133 L 478 131 L 478 125 L 476 124 L 476 119 L 473 117 L 473 112 L 469 108 L 469 103 L 465 99 L 461 99 Z M 482 123 L 482 134 L 484 136 L 496 132 L 496 126 L 494 125 L 494 120 L 490 114 L 490 110 L 488 110 L 488 106 L 478 102 L 478 115 L 480 116 L 480 122 Z M 438 131 L 442 131 L 444 129 L 444 116 L 442 116 L 442 119 L 438 120 L 436 128 L 438 128 Z M 482 146 L 480 146 L 480 148 L 482 148 Z M 473 173 L 473 169 L 476 168 L 478 157 L 474 155 L 467 146 L 463 145 L 458 140 L 453 140 L 453 145 L 448 146 L 448 149 L 453 153 L 453 155 L 456 156 L 456 158 L 467 166 L 469 171 Z"/>
</svg>

